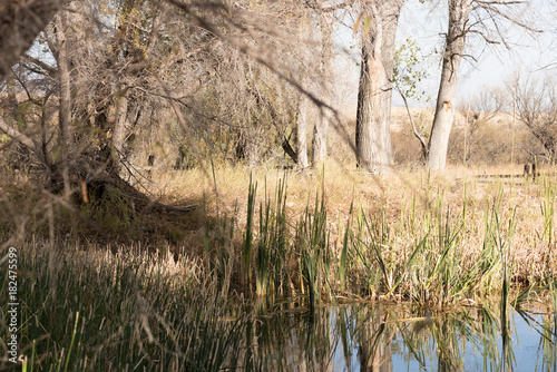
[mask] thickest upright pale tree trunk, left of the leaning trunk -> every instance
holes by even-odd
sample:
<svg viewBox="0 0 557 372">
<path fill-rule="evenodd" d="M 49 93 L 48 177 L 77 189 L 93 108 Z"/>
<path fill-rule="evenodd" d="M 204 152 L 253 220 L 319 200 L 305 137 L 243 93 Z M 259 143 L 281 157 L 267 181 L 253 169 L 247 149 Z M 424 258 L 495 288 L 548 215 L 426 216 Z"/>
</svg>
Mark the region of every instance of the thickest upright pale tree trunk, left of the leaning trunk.
<svg viewBox="0 0 557 372">
<path fill-rule="evenodd" d="M 371 173 L 392 168 L 391 98 L 394 39 L 403 0 L 370 4 L 370 29 L 362 41 L 355 146 L 358 166 Z M 365 22 L 368 23 L 368 22 Z"/>
</svg>

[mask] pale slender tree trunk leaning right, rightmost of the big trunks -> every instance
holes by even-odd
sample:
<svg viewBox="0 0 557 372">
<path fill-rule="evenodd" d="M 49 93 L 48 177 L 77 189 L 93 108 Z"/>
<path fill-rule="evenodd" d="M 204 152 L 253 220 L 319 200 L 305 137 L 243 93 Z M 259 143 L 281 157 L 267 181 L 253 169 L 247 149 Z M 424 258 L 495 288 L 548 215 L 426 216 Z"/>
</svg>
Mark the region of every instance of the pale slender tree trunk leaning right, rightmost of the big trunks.
<svg viewBox="0 0 557 372">
<path fill-rule="evenodd" d="M 449 0 L 449 31 L 444 46 L 436 115 L 429 139 L 428 167 L 431 170 L 443 172 L 447 164 L 449 136 L 455 120 L 458 75 L 465 52 L 466 25 L 471 2 L 472 0 Z"/>
</svg>

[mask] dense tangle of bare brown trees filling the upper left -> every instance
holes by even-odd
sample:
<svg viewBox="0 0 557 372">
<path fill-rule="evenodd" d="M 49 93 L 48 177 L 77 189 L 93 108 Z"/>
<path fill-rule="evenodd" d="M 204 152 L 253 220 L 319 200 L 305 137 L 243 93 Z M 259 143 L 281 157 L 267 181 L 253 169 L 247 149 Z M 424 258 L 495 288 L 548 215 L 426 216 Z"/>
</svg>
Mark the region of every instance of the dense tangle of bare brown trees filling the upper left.
<svg viewBox="0 0 557 372">
<path fill-rule="evenodd" d="M 184 7 L 69 2 L 6 75 L 2 158 L 56 184 L 129 172 L 134 155 L 175 167 L 295 157 L 296 121 L 316 116 L 303 96 L 328 80 L 330 25 L 290 2 Z"/>
</svg>

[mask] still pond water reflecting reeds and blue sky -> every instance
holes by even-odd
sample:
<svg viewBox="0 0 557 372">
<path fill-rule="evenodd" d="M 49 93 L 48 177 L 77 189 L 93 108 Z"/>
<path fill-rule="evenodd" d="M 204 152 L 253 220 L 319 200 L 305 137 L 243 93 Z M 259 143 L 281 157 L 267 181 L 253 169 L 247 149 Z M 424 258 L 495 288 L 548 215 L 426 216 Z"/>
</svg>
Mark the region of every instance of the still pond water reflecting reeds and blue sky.
<svg viewBox="0 0 557 372">
<path fill-rule="evenodd" d="M 246 356 L 268 371 L 557 371 L 556 330 L 555 314 L 497 305 L 282 310 L 248 327 Z"/>
</svg>

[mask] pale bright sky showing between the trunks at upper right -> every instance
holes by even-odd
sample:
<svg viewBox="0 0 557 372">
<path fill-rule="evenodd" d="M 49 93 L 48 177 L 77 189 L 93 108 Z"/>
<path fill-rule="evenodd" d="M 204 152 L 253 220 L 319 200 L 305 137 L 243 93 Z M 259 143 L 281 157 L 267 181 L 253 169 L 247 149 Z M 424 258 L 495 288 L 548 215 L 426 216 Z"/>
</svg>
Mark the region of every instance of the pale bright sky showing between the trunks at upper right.
<svg viewBox="0 0 557 372">
<path fill-rule="evenodd" d="M 409 36 L 417 40 L 423 53 L 423 66 L 429 72 L 429 78 L 420 85 L 420 90 L 424 90 L 426 96 L 431 98 L 429 102 L 411 101 L 410 106 L 434 107 L 441 72 L 441 33 L 447 30 L 447 13 L 446 1 L 420 3 L 418 0 L 408 0 L 402 9 L 397 43 L 400 45 Z M 528 8 L 520 17 L 527 18 L 536 29 L 544 32 L 525 32 L 520 27 L 507 22 L 501 30 L 507 36 L 509 49 L 502 45 L 487 47 L 479 37 L 467 39 L 466 52 L 473 56 L 476 61 L 470 58 L 462 61 L 457 105 L 467 105 L 481 90 L 502 87 L 516 71 L 540 75 L 557 71 L 551 66 L 557 63 L 557 32 L 553 25 L 557 19 L 555 3 L 550 0 L 528 1 Z M 344 19 L 344 23 L 350 26 L 350 20 Z M 336 35 L 338 47 L 349 49 L 352 55 L 351 58 L 343 55 L 338 61 L 343 75 L 340 79 L 342 105 L 352 110 L 358 97 L 360 40 L 350 27 L 338 26 Z M 398 94 L 393 95 L 393 106 L 402 106 Z"/>
</svg>

